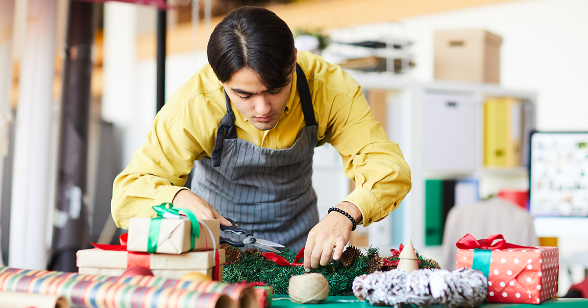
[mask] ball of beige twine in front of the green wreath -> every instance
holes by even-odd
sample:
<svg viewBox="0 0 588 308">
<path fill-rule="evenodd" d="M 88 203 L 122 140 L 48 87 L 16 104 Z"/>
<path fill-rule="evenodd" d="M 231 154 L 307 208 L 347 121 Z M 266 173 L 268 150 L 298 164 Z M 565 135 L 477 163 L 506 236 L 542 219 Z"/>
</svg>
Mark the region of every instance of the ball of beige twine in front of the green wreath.
<svg viewBox="0 0 588 308">
<path fill-rule="evenodd" d="M 329 296 L 329 282 L 319 273 L 292 276 L 288 285 L 288 294 L 294 303 L 319 303 Z"/>
</svg>

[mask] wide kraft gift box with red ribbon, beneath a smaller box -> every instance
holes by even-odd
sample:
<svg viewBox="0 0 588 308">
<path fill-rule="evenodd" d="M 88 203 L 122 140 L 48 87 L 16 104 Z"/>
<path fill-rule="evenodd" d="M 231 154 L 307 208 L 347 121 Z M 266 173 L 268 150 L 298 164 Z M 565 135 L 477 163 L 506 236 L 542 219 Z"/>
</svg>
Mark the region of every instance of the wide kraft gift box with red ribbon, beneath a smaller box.
<svg viewBox="0 0 588 308">
<path fill-rule="evenodd" d="M 179 279 L 186 273 L 197 272 L 222 281 L 225 264 L 224 249 L 169 255 L 92 248 L 78 251 L 76 255 L 80 274 L 101 276 L 121 276 L 128 268 L 142 266 L 150 269 L 154 276 L 165 279 Z"/>
</svg>

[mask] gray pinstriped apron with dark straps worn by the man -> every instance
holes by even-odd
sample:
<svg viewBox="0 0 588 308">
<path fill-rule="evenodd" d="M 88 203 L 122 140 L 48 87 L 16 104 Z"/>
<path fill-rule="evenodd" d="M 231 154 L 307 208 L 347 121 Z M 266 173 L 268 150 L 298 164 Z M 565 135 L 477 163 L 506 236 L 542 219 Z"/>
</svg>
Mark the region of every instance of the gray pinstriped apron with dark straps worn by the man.
<svg viewBox="0 0 588 308">
<path fill-rule="evenodd" d="M 235 114 L 225 92 L 227 113 L 218 128 L 212 158 L 195 162 L 191 188 L 256 238 L 298 251 L 319 222 L 319 214 L 311 180 L 317 125 L 306 76 L 298 63 L 296 74 L 306 127 L 294 145 L 272 150 L 237 138 Z M 220 235 L 245 238 L 222 231 Z"/>
</svg>

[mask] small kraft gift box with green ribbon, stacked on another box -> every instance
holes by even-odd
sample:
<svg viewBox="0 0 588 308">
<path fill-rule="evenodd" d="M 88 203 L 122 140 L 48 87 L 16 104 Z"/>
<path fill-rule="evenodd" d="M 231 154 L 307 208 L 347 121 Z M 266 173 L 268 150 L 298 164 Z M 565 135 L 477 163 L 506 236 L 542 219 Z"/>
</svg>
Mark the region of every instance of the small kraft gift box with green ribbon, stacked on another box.
<svg viewBox="0 0 588 308">
<path fill-rule="evenodd" d="M 218 249 L 219 219 L 198 219 L 198 231 L 193 231 L 192 226 L 189 219 L 131 218 L 126 249 L 174 254 Z M 193 235 L 193 232 L 196 232 L 198 237 Z"/>
</svg>

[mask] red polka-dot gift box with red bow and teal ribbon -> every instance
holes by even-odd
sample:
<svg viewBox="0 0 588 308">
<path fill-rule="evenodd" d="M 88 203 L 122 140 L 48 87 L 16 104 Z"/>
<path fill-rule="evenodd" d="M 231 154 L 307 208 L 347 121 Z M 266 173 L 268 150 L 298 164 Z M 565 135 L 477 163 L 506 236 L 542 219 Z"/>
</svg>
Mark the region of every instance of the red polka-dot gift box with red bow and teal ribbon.
<svg viewBox="0 0 588 308">
<path fill-rule="evenodd" d="M 480 240 L 467 234 L 456 246 L 456 268 L 477 269 L 488 278 L 489 303 L 539 304 L 557 295 L 557 247 L 514 245 L 500 234 Z"/>
</svg>

